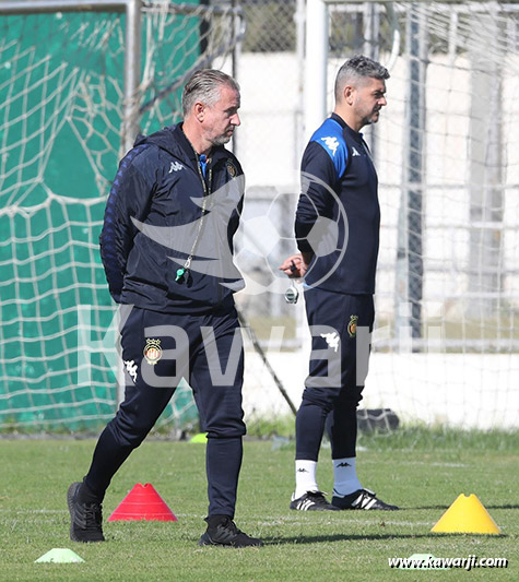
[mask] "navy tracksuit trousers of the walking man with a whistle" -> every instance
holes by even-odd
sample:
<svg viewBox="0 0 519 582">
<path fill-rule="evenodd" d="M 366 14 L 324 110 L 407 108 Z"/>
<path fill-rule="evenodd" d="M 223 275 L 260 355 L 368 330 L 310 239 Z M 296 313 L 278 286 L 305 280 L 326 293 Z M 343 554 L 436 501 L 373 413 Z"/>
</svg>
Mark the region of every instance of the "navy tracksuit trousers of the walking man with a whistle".
<svg viewBox="0 0 519 582">
<path fill-rule="evenodd" d="M 146 358 L 149 340 L 155 341 L 154 346 L 158 340 L 160 351 L 146 352 Z M 125 401 L 97 441 L 84 483 L 103 499 L 113 476 L 144 440 L 185 378 L 208 433 L 208 515 L 234 518 L 246 431 L 244 352 L 236 310 L 177 316 L 133 307 L 122 323 L 121 347 Z"/>
</svg>

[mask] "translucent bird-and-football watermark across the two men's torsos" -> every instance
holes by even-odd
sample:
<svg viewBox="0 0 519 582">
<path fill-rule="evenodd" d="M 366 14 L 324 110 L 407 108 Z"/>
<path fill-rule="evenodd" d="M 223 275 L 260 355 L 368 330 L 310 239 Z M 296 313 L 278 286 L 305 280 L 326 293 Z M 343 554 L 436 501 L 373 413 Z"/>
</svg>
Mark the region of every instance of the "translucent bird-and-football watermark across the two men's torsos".
<svg viewBox="0 0 519 582">
<path fill-rule="evenodd" d="M 236 173 L 229 163 L 227 173 L 229 176 Z M 244 190 L 245 178 L 237 176 L 204 199 L 191 198 L 192 203 L 202 209 L 203 215 L 188 224 L 156 226 L 135 217 L 131 219 L 143 235 L 172 251 L 168 253 L 166 250 L 174 263 L 172 268 L 185 268 L 190 259 L 190 271 L 216 277 L 221 285 L 235 292 L 244 289 L 243 293 L 247 295 L 284 294 L 286 276 L 278 271 L 278 265 L 285 256 L 296 251 L 297 240 L 291 234 L 283 234 L 283 230 L 292 233 L 294 211 L 300 197 L 312 221 L 311 229 L 305 237 L 315 254 L 310 271 L 318 268 L 321 259 L 326 259 L 322 276 L 312 281 L 311 286 L 317 287 L 327 281 L 341 263 L 349 237 L 346 212 L 333 189 L 316 176 L 302 173 L 300 194 L 276 193 L 264 213 L 252 216 L 240 212 Z M 321 194 L 325 191 L 331 200 L 329 210 L 333 217 L 322 215 L 316 206 L 315 191 Z M 227 230 L 236 215 L 241 218 L 237 234 L 240 245 L 237 245 L 238 252 L 233 257 Z M 251 263 L 258 265 L 260 276 L 251 274 Z"/>
</svg>

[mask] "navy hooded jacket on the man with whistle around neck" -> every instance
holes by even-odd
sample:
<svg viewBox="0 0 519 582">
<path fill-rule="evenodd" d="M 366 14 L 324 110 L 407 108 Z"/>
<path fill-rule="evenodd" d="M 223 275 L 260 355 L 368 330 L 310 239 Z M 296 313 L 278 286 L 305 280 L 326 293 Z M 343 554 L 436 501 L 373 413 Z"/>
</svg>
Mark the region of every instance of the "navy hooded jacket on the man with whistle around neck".
<svg viewBox="0 0 519 582">
<path fill-rule="evenodd" d="M 121 159 L 99 237 L 116 302 L 168 313 L 234 306 L 233 293 L 244 286 L 232 262 L 243 170 L 231 152 L 217 146 L 204 174 L 181 123 L 138 136 Z M 191 268 L 177 281 L 177 270 L 191 254 Z"/>
</svg>

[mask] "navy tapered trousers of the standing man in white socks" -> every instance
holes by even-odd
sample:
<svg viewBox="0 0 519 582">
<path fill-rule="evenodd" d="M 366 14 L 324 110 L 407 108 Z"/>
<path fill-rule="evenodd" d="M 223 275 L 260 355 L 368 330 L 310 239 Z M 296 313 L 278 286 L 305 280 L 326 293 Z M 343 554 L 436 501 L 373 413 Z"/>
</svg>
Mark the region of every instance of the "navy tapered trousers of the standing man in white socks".
<svg viewBox="0 0 519 582">
<path fill-rule="evenodd" d="M 296 416 L 296 460 L 318 460 L 325 430 L 332 459 L 353 458 L 375 319 L 373 295 L 306 288 L 305 304 L 311 355 Z"/>
</svg>

